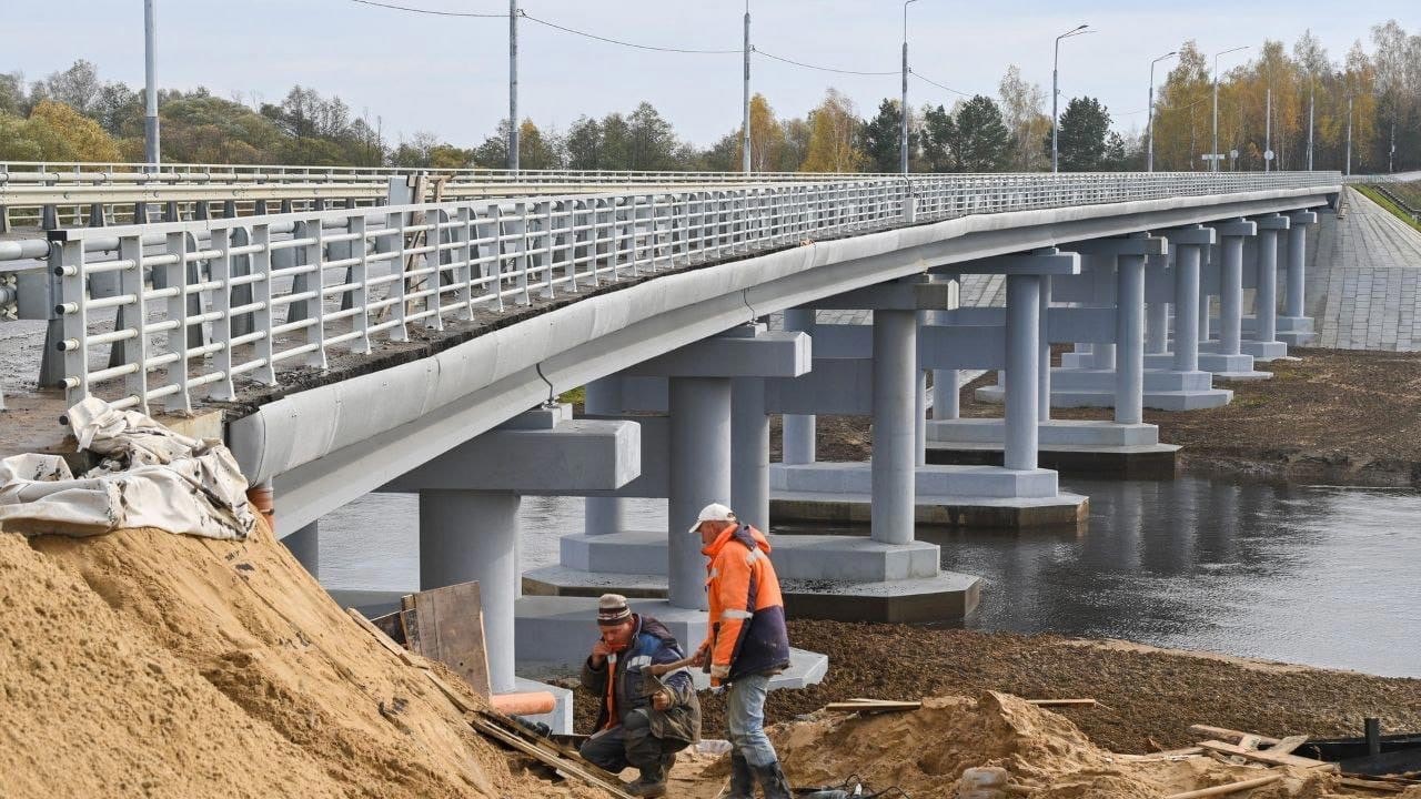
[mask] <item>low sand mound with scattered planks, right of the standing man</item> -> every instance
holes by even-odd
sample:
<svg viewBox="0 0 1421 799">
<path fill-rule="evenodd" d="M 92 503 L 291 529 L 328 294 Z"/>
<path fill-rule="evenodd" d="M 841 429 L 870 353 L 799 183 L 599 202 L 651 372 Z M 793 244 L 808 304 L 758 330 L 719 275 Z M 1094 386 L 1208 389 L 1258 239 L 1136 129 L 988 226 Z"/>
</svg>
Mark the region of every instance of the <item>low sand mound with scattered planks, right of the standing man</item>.
<svg viewBox="0 0 1421 799">
<path fill-rule="evenodd" d="M 1090 742 L 1069 719 L 998 692 L 939 697 L 918 711 L 854 717 L 816 714 L 773 731 L 796 785 L 836 785 L 860 775 L 872 789 L 898 786 L 914 798 L 956 796 L 962 772 L 998 766 L 1044 799 L 1158 799 L 1256 778 L 1273 771 L 1228 766 L 1209 758 L 1140 761 Z M 1353 796 L 1329 775 L 1276 769 L 1285 779 L 1246 793 L 1252 799 Z M 708 775 L 709 776 L 709 775 Z"/>
</svg>

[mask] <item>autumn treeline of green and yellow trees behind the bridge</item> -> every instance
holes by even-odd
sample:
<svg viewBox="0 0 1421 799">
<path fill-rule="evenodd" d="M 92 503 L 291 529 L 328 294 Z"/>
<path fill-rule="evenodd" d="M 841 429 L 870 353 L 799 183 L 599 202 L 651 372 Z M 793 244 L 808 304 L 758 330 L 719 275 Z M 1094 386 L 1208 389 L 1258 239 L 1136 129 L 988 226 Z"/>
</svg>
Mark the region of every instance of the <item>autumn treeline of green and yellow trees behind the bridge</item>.
<svg viewBox="0 0 1421 799">
<path fill-rule="evenodd" d="M 1238 154 L 1223 168 L 1262 169 L 1265 151 L 1272 149 L 1275 169 L 1307 169 L 1309 108 L 1314 168 L 1344 166 L 1349 119 L 1354 172 L 1421 168 L 1421 36 L 1388 21 L 1373 28 L 1370 51 L 1358 41 L 1336 63 L 1310 31 L 1290 50 L 1268 40 L 1253 53 L 1252 61 L 1219 78 L 1219 149 Z M 1208 169 L 1202 156 L 1214 145 L 1212 80 L 1208 54 L 1194 41 L 1184 43 L 1155 94 L 1155 169 Z M 165 161 L 429 168 L 507 163 L 507 119 L 482 144 L 460 146 L 428 132 L 389 142 L 378 118 L 371 124 L 338 97 L 325 98 L 300 85 L 274 104 L 223 100 L 205 88 L 162 90 L 158 100 Z M 1070 100 L 1060 118 L 1060 169 L 1144 169 L 1145 121 L 1145 109 L 1115 117 L 1096 98 Z M 806 115 L 782 118 L 756 94 L 750 105 L 752 168 L 897 172 L 901 124 L 897 100 L 884 100 L 864 118 L 844 94 L 830 88 Z M 1050 169 L 1050 128 L 1047 92 L 1012 65 L 996 97 L 911 109 L 909 163 L 914 172 Z M 524 119 L 519 134 L 524 169 L 739 171 L 742 165 L 739 121 L 710 146 L 698 148 L 678 136 L 648 102 L 627 114 L 581 117 L 566 131 Z M 142 161 L 142 91 L 102 81 L 87 61 L 34 82 L 17 73 L 0 74 L 3 161 Z"/>
</svg>

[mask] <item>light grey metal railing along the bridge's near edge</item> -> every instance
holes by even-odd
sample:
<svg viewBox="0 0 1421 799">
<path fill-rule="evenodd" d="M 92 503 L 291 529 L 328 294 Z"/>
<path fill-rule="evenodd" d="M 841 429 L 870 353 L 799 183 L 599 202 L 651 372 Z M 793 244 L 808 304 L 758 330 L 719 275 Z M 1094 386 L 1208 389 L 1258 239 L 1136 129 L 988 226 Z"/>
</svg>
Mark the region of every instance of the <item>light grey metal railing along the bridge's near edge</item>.
<svg viewBox="0 0 1421 799">
<path fill-rule="evenodd" d="M 247 382 L 688 264 L 973 213 L 1326 191 L 1336 172 L 932 175 L 624 191 L 51 232 L 61 387 L 119 408 Z M 911 198 L 911 202 L 909 202 Z M 108 328 L 108 320 L 114 318 Z M 107 330 L 98 331 L 99 327 Z"/>
</svg>

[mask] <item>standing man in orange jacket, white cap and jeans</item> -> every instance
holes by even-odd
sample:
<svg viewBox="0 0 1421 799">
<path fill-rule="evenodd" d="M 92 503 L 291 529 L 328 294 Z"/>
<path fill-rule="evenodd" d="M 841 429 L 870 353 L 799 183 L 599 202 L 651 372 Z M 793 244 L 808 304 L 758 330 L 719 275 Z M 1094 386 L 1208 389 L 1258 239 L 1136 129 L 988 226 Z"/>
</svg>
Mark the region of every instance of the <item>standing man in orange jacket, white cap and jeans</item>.
<svg viewBox="0 0 1421 799">
<path fill-rule="evenodd" d="M 710 618 L 693 663 L 709 667 L 712 685 L 729 685 L 725 721 L 730 738 L 729 799 L 790 799 L 774 745 L 764 735 L 764 694 L 770 677 L 790 664 L 780 581 L 770 564 L 770 542 L 742 525 L 720 503 L 706 505 L 691 527 L 701 536 L 709 579 Z"/>
</svg>

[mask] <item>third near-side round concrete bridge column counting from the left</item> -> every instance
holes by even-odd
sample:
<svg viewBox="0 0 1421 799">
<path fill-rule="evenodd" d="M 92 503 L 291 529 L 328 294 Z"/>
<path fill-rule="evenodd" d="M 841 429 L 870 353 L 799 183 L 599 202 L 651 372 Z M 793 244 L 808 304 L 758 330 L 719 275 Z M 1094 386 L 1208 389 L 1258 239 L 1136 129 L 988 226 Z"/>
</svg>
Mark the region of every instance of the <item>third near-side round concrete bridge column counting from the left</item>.
<svg viewBox="0 0 1421 799">
<path fill-rule="evenodd" d="M 1034 306 L 1033 306 L 1034 310 Z M 918 388 L 917 311 L 874 311 L 874 456 L 870 535 L 882 543 L 914 539 Z"/>
</svg>

